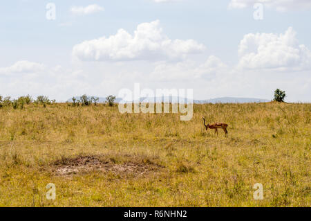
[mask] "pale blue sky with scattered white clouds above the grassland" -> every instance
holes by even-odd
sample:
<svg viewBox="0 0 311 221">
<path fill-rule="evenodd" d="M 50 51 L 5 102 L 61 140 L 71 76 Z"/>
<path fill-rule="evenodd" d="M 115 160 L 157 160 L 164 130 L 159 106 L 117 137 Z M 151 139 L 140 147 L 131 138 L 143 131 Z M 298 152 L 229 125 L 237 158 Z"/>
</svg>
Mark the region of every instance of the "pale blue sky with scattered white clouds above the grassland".
<svg viewBox="0 0 311 221">
<path fill-rule="evenodd" d="M 270 99 L 280 88 L 310 102 L 311 3 L 263 1 L 256 20 L 261 1 L 3 1 L 0 94 L 66 100 L 138 82 L 193 88 L 196 99 Z"/>
</svg>

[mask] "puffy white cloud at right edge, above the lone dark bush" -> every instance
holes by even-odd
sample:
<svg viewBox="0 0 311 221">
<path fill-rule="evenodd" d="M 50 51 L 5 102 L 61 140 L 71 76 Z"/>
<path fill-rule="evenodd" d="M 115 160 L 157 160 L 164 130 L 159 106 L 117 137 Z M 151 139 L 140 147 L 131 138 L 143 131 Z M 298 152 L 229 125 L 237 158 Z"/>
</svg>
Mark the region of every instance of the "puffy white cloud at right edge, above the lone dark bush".
<svg viewBox="0 0 311 221">
<path fill-rule="evenodd" d="M 241 56 L 238 67 L 244 69 L 279 69 L 301 71 L 310 69 L 311 52 L 296 39 L 290 27 L 285 34 L 247 34 L 238 46 Z"/>
</svg>

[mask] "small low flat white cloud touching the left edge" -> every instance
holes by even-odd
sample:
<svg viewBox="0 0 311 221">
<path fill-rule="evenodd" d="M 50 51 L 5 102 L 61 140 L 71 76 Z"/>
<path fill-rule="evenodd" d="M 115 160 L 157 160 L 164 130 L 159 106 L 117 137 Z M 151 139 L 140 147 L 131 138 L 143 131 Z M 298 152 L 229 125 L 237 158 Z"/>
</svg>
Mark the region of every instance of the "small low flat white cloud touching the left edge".
<svg viewBox="0 0 311 221">
<path fill-rule="evenodd" d="M 0 74 L 12 74 L 12 73 L 37 73 L 44 69 L 44 64 L 39 64 L 36 62 L 29 62 L 22 60 L 15 62 L 10 67 L 0 68 Z"/>
</svg>

